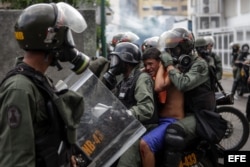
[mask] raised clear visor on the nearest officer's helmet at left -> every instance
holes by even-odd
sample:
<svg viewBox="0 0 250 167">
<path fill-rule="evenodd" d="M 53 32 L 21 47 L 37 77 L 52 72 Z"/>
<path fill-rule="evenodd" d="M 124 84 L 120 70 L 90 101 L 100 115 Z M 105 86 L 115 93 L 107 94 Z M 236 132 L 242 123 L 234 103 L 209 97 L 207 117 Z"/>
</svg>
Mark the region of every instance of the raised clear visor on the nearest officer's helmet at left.
<svg viewBox="0 0 250 167">
<path fill-rule="evenodd" d="M 81 33 L 87 28 L 85 19 L 75 8 L 64 2 L 59 2 L 56 6 L 58 8 L 56 27 L 65 26 L 76 33 Z"/>
</svg>

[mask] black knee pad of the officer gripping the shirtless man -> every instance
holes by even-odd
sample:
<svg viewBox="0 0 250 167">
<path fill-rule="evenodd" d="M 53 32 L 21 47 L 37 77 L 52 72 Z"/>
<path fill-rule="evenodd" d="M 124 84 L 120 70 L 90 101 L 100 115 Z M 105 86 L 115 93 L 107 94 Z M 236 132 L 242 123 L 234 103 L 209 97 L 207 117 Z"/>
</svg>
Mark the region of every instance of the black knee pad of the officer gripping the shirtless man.
<svg viewBox="0 0 250 167">
<path fill-rule="evenodd" d="M 177 124 L 170 124 L 165 132 L 165 146 L 169 151 L 181 151 L 186 147 L 186 133 Z"/>
</svg>

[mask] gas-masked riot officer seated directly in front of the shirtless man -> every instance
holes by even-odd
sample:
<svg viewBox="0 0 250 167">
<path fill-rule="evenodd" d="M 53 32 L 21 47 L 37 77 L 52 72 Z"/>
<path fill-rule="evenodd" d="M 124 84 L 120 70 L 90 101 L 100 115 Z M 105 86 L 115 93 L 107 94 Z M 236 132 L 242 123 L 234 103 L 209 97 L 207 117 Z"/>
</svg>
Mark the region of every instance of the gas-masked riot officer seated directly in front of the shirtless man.
<svg viewBox="0 0 250 167">
<path fill-rule="evenodd" d="M 119 83 L 112 86 L 118 99 L 127 107 L 128 112 L 137 118 L 145 127 L 154 121 L 153 80 L 151 76 L 140 70 L 141 53 L 137 45 L 131 42 L 118 43 L 110 53 L 110 69 L 104 75 L 112 85 L 114 77 L 122 74 Z M 114 113 L 118 114 L 118 113 Z M 154 119 L 155 118 L 155 119 Z M 119 159 L 118 167 L 140 166 L 139 141 L 136 141 Z"/>
</svg>

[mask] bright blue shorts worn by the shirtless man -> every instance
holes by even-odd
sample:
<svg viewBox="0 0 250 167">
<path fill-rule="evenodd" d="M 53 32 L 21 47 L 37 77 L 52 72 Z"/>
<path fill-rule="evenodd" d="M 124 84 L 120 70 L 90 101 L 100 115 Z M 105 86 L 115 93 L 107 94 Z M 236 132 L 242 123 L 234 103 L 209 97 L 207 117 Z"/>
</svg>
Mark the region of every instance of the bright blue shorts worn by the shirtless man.
<svg viewBox="0 0 250 167">
<path fill-rule="evenodd" d="M 156 153 L 163 149 L 166 128 L 176 120 L 175 118 L 160 118 L 159 125 L 142 137 L 152 152 Z"/>
</svg>

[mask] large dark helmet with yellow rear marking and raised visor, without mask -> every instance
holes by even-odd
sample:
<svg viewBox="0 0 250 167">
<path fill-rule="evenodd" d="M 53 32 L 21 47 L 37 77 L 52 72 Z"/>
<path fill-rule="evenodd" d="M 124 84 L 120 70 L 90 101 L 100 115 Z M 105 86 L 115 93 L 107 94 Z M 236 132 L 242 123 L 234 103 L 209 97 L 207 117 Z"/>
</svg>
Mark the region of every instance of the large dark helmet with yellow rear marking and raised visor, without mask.
<svg viewBox="0 0 250 167">
<path fill-rule="evenodd" d="M 27 7 L 15 24 L 15 37 L 24 50 L 53 50 L 67 40 L 74 45 L 71 31 L 80 33 L 87 28 L 81 14 L 72 6 L 39 3 Z M 67 31 L 68 30 L 68 31 Z"/>
</svg>

